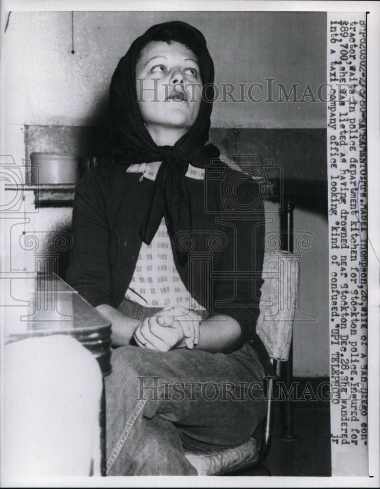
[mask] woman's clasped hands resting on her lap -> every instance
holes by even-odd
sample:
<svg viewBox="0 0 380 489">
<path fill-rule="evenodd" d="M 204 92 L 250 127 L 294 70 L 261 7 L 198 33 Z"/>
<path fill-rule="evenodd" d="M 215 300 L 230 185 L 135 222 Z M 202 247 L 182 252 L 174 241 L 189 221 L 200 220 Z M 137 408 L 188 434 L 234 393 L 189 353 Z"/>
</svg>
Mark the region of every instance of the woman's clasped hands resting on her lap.
<svg viewBox="0 0 380 489">
<path fill-rule="evenodd" d="M 182 306 L 166 306 L 138 324 L 134 339 L 142 348 L 161 352 L 192 349 L 199 340 L 200 323 L 201 316 L 197 312 Z"/>
</svg>

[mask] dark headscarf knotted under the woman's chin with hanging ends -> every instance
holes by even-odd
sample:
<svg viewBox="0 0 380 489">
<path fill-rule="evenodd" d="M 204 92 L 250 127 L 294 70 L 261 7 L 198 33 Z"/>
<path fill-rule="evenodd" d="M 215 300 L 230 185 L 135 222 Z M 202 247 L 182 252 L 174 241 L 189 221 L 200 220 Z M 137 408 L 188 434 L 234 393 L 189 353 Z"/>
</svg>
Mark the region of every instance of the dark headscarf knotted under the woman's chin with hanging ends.
<svg viewBox="0 0 380 489">
<path fill-rule="evenodd" d="M 198 57 L 202 100 L 198 117 L 174 146 L 157 146 L 147 131 L 138 108 L 135 67 L 141 49 L 151 41 L 177 41 Z M 210 129 L 214 99 L 214 64 L 202 33 L 185 22 L 157 24 L 138 37 L 121 58 L 112 76 L 110 103 L 112 114 L 112 154 L 115 163 L 131 165 L 162 161 L 153 185 L 140 237 L 150 244 L 162 217 L 172 240 L 178 231 L 191 230 L 190 200 L 185 174 L 189 163 L 204 168 L 220 153 L 213 144 L 205 145 Z M 211 101 L 211 102 L 210 102 Z M 201 196 L 200 196 L 201 198 Z M 183 265 L 187 256 L 179 253 Z"/>
</svg>

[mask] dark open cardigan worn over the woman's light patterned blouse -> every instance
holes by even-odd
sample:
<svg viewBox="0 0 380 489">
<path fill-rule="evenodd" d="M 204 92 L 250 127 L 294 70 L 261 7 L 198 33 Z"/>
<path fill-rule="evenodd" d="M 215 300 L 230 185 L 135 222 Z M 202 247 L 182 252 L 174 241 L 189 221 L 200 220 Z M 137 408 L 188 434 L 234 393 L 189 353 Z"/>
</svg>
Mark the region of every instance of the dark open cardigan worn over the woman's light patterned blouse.
<svg viewBox="0 0 380 489">
<path fill-rule="evenodd" d="M 191 295 L 211 314 L 231 316 L 240 324 L 241 339 L 232 350 L 251 340 L 263 357 L 266 351 L 255 326 L 263 282 L 264 211 L 262 204 L 252 210 L 261 189 L 242 175 L 218 162 L 206 168 L 204 180 L 186 178 L 192 231 L 187 239 L 178 236 L 172 249 Z M 152 183 L 115 165 L 90 172 L 76 187 L 67 282 L 94 307 L 117 309 L 125 295 L 142 243 L 138 231 Z M 181 267 L 176 246 L 190 243 L 189 259 Z M 201 272 L 197 268 L 189 278 L 194 260 L 209 264 L 211 278 L 206 278 L 207 267 Z"/>
</svg>

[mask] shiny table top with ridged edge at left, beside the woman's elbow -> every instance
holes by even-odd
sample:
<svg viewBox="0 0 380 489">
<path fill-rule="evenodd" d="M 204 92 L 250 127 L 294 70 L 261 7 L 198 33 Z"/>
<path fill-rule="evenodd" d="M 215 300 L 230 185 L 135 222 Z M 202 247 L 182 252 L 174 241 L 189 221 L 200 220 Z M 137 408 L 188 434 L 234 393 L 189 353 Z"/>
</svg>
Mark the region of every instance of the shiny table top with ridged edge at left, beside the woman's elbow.
<svg viewBox="0 0 380 489">
<path fill-rule="evenodd" d="M 111 323 L 57 275 L 1 279 L 5 291 L 5 344 L 51 334 L 70 334 L 109 372 Z"/>
</svg>

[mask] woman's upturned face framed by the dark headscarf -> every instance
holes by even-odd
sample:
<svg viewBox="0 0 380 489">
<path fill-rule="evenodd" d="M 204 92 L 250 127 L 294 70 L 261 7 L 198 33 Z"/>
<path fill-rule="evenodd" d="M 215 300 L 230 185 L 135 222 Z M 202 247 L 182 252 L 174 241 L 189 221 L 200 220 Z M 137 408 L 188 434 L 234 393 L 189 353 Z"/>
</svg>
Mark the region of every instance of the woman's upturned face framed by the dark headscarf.
<svg viewBox="0 0 380 489">
<path fill-rule="evenodd" d="M 184 44 L 152 41 L 136 64 L 137 103 L 148 130 L 152 126 L 188 130 L 201 106 L 201 73 Z"/>
</svg>

